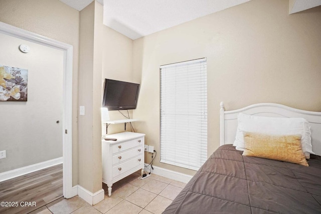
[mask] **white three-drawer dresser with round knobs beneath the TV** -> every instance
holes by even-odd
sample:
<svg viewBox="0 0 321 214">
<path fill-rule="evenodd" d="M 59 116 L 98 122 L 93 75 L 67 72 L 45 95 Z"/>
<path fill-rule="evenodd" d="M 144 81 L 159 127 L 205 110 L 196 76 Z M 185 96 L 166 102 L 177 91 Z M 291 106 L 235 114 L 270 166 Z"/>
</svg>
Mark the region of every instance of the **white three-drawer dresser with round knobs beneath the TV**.
<svg viewBox="0 0 321 214">
<path fill-rule="evenodd" d="M 106 137 L 116 138 L 102 140 L 102 182 L 108 186 L 108 195 L 111 195 L 111 186 L 116 181 L 141 169 L 144 170 L 144 136 L 135 132 L 121 132 Z"/>
</svg>

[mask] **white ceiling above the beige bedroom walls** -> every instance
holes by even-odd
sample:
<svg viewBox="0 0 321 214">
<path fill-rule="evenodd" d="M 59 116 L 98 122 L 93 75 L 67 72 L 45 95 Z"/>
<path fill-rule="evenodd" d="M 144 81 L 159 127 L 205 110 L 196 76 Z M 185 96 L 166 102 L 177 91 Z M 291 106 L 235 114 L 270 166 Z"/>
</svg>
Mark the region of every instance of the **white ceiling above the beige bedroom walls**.
<svg viewBox="0 0 321 214">
<path fill-rule="evenodd" d="M 81 11 L 93 0 L 60 0 Z M 104 25 L 132 40 L 251 0 L 96 0 Z M 289 0 L 289 14 L 321 5 L 321 0 Z"/>
</svg>

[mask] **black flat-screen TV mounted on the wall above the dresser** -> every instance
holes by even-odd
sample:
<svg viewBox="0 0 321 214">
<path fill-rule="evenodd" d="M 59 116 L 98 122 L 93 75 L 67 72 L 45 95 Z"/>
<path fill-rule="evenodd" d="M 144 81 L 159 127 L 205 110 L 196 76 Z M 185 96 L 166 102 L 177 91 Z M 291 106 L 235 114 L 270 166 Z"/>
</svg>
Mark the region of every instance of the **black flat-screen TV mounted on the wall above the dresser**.
<svg viewBox="0 0 321 214">
<path fill-rule="evenodd" d="M 139 84 L 105 79 L 102 106 L 108 110 L 136 109 Z"/>
</svg>

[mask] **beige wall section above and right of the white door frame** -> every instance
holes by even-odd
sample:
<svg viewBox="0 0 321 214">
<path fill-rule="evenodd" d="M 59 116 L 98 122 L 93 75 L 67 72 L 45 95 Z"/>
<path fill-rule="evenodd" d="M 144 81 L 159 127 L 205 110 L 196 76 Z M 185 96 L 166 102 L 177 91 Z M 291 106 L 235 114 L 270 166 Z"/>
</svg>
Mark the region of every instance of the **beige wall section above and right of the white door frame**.
<svg viewBox="0 0 321 214">
<path fill-rule="evenodd" d="M 78 43 L 79 12 L 60 1 L 0 0 L 0 22 L 73 46 L 73 184 L 78 183 Z"/>
</svg>

